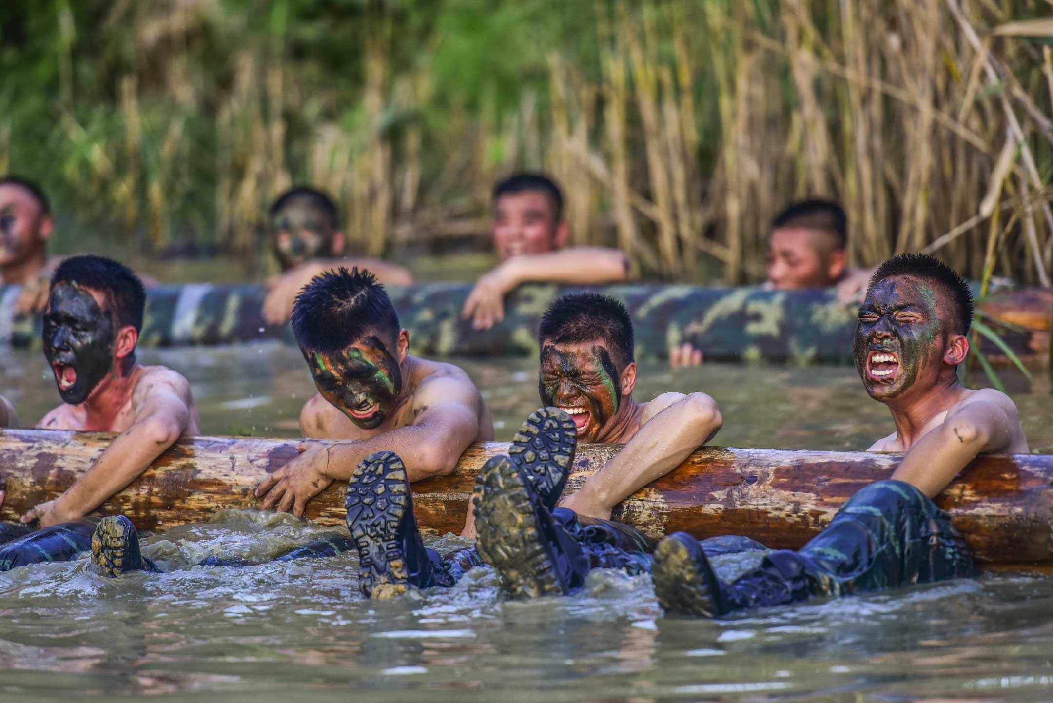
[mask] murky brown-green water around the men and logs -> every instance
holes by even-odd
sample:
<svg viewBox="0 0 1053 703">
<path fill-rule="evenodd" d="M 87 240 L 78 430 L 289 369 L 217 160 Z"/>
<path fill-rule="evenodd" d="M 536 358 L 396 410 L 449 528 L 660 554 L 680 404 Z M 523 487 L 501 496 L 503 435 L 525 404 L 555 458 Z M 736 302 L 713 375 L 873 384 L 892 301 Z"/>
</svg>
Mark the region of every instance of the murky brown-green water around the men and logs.
<svg viewBox="0 0 1053 703">
<path fill-rule="evenodd" d="M 23 418 L 58 402 L 35 355 L 9 353 L 0 393 Z M 213 434 L 296 434 L 311 393 L 294 349 L 153 350 L 183 370 Z M 537 404 L 526 360 L 465 362 L 508 439 Z M 45 377 L 46 376 L 46 377 Z M 829 367 L 641 369 L 637 394 L 703 389 L 719 443 L 865 448 L 891 431 L 854 371 Z M 1036 449 L 1053 448 L 1049 386 L 1007 379 Z M 0 575 L 0 700 L 903 701 L 1050 700 L 1053 579 L 988 576 L 775 608 L 717 622 L 662 618 L 649 577 L 590 577 L 570 598 L 509 603 L 490 569 L 451 589 L 360 599 L 355 559 L 264 559 L 325 534 L 287 516 L 226 511 L 146 540 L 173 569 L 106 580 L 84 561 Z M 440 549 L 462 544 L 451 536 Z M 732 576 L 748 557 L 718 568 Z"/>
</svg>

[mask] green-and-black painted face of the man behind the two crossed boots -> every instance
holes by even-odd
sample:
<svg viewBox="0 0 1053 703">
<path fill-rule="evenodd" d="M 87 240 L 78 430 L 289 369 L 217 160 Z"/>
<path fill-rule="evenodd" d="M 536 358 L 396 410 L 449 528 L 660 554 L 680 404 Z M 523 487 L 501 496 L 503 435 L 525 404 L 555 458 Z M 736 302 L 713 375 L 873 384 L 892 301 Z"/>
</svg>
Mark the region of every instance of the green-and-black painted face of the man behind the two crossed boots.
<svg viewBox="0 0 1053 703">
<path fill-rule="evenodd" d="M 618 369 L 610 352 L 600 344 L 590 349 L 560 349 L 545 344 L 541 348 L 538 390 L 545 405 L 588 410 L 571 416 L 578 427 L 579 442 L 595 442 L 621 405 Z"/>
</svg>

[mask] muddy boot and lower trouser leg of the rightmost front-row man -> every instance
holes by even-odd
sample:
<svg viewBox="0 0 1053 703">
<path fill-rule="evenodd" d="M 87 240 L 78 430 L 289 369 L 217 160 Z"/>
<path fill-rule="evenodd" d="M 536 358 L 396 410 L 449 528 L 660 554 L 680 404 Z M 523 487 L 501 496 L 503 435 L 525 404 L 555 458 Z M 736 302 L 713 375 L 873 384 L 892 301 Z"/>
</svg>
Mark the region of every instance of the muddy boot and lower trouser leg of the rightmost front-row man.
<svg viewBox="0 0 1053 703">
<path fill-rule="evenodd" d="M 698 541 L 675 533 L 655 549 L 655 595 L 667 612 L 716 618 L 810 598 L 817 589 L 806 568 L 796 553 L 774 551 L 757 568 L 724 583 L 714 574 Z"/>
</svg>

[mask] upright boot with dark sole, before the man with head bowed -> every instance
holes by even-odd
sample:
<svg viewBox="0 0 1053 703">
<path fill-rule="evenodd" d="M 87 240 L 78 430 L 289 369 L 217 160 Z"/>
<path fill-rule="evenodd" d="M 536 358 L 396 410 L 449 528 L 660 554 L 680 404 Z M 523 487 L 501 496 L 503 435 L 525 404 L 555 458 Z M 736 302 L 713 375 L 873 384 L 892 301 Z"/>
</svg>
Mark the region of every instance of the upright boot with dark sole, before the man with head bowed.
<svg viewBox="0 0 1053 703">
<path fill-rule="evenodd" d="M 433 557 L 413 515 L 405 466 L 396 454 L 376 451 L 355 468 L 345 505 L 362 595 L 394 598 L 410 586 L 436 585 Z"/>
</svg>

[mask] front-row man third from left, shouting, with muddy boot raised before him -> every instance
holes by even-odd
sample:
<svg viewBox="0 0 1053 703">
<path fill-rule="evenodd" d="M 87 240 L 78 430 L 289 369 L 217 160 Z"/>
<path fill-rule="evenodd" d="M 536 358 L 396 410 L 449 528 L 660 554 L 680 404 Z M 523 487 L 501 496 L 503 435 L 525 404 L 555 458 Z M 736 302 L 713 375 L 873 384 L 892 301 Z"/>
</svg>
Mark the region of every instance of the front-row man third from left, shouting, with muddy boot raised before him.
<svg viewBox="0 0 1053 703">
<path fill-rule="evenodd" d="M 668 393 L 645 403 L 633 398 L 633 324 L 613 298 L 562 296 L 541 319 L 538 341 L 541 400 L 570 418 L 577 441 L 624 447 L 558 507 L 515 457 L 483 466 L 463 536 L 478 531 L 479 555 L 514 598 L 570 592 L 594 568 L 650 570 L 655 543 L 612 522 L 611 511 L 679 466 L 722 424 L 703 393 Z M 551 480 L 560 487 L 562 481 L 565 473 Z M 735 548 L 755 546 L 744 542 Z"/>
</svg>

